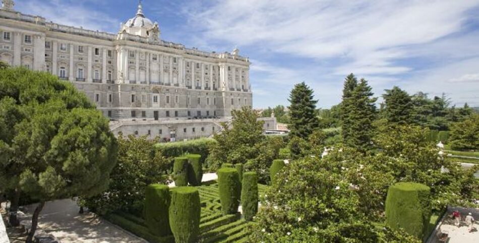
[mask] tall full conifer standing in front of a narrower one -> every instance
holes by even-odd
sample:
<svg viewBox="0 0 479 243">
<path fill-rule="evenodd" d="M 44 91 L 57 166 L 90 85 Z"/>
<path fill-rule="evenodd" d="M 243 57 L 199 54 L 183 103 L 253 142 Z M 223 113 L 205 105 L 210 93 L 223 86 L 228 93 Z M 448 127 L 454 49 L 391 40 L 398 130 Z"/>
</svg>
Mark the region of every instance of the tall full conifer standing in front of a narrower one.
<svg viewBox="0 0 479 243">
<path fill-rule="evenodd" d="M 377 98 L 374 98 L 373 95 L 368 81 L 361 79 L 351 93 L 351 100 L 354 102 L 349 105 L 350 110 L 348 110 L 348 120 L 346 120 L 349 126 L 346 129 L 349 134 L 343 137 L 346 145 L 363 152 L 372 148 L 373 121 L 377 116 L 375 105 Z"/>
</svg>

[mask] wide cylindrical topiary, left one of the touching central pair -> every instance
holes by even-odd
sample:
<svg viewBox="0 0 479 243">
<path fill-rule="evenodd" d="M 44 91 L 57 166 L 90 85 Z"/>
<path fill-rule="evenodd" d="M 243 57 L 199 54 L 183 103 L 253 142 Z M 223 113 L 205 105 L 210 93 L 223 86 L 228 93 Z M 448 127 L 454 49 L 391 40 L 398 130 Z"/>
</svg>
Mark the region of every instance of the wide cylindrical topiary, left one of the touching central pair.
<svg viewBox="0 0 479 243">
<path fill-rule="evenodd" d="M 236 169 L 218 169 L 218 190 L 223 214 L 238 212 L 239 200 L 241 199 L 241 183 Z"/>
</svg>

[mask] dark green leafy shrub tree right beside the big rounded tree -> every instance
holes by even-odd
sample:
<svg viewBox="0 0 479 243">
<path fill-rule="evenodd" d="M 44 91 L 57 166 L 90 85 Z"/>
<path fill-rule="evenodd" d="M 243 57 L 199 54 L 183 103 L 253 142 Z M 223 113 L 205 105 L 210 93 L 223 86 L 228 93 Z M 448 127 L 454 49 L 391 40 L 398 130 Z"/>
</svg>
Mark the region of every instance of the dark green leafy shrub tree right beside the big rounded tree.
<svg viewBox="0 0 479 243">
<path fill-rule="evenodd" d="M 164 171 L 169 166 L 161 153 L 153 149 L 153 144 L 145 137 L 119 137 L 118 162 L 110 174 L 108 190 L 83 200 L 83 205 L 98 214 L 118 210 L 142 212 L 145 188 L 150 184 L 164 184 Z"/>
</svg>

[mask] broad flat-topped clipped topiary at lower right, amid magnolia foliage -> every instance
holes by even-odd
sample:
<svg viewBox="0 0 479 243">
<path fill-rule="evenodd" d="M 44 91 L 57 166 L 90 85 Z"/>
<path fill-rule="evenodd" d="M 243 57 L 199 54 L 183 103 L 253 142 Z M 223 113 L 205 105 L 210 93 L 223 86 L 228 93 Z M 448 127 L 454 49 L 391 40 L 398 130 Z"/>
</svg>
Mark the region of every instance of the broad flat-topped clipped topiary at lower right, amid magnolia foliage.
<svg viewBox="0 0 479 243">
<path fill-rule="evenodd" d="M 396 183 L 386 197 L 386 224 L 423 238 L 431 217 L 431 189 L 417 183 Z"/>
</svg>

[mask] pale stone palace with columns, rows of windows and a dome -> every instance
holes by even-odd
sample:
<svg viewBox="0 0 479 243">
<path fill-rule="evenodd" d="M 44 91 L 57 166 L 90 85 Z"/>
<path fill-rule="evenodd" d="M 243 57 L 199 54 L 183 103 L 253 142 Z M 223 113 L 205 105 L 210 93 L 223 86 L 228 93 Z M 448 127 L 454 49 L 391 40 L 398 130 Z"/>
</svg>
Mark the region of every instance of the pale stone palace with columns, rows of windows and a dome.
<svg viewBox="0 0 479 243">
<path fill-rule="evenodd" d="M 0 60 L 72 82 L 111 120 L 220 118 L 252 105 L 248 58 L 161 40 L 141 4 L 117 34 L 52 23 L 14 4 L 3 0 L 0 10 Z"/>
</svg>

